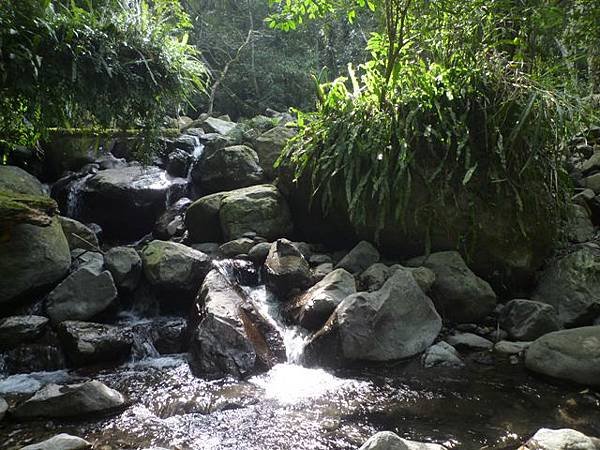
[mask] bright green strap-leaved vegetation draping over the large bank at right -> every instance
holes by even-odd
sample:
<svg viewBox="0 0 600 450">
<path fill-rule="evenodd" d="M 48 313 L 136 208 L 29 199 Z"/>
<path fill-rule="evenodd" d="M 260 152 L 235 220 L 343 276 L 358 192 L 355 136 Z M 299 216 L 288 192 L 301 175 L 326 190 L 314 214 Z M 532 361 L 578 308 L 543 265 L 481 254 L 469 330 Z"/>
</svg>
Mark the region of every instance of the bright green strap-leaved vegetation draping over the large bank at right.
<svg viewBox="0 0 600 450">
<path fill-rule="evenodd" d="M 271 3 L 281 4 L 271 23 L 282 29 L 340 4 Z M 581 2 L 342 3 L 349 18 L 377 8 L 383 31 L 369 40 L 369 62 L 318 87 L 316 112 L 299 113 L 279 160 L 310 177 L 326 212 L 343 193 L 355 225 L 377 230 L 409 210 L 444 223 L 448 204 L 476 216 L 482 204 L 510 202 L 523 234 L 524 215 L 560 217 L 566 140 L 592 115 L 593 80 L 581 68 L 590 46 L 563 43 L 581 26 Z M 600 17 L 592 9 L 586 17 Z"/>
</svg>

